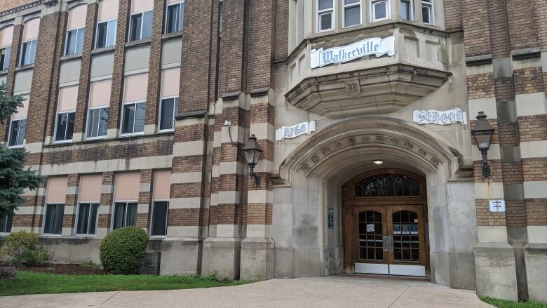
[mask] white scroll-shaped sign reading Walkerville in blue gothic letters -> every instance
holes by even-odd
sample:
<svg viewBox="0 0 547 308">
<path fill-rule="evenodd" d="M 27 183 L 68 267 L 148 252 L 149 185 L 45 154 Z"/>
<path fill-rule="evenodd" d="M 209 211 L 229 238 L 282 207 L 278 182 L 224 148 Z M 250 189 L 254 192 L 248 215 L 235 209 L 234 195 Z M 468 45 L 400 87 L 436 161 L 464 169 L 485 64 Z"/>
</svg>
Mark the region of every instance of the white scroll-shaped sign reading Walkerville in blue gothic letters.
<svg viewBox="0 0 547 308">
<path fill-rule="evenodd" d="M 364 55 L 395 55 L 395 36 L 388 36 L 384 39 L 372 37 L 363 39 L 346 46 L 332 47 L 323 51 L 323 48 L 312 49 L 310 55 L 310 67 L 323 67 L 332 63 L 348 62 Z"/>
</svg>

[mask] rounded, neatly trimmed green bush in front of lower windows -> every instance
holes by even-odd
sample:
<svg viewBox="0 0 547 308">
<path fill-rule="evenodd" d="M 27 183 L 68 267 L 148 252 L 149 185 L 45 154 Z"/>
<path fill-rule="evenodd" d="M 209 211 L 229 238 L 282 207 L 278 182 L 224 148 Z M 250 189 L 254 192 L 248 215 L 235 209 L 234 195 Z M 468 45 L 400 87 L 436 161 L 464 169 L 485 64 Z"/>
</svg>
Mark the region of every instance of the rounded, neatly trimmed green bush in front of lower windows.
<svg viewBox="0 0 547 308">
<path fill-rule="evenodd" d="M 102 267 L 112 274 L 139 274 L 140 261 L 147 246 L 148 235 L 143 229 L 116 229 L 101 241 L 99 257 Z"/>
</svg>

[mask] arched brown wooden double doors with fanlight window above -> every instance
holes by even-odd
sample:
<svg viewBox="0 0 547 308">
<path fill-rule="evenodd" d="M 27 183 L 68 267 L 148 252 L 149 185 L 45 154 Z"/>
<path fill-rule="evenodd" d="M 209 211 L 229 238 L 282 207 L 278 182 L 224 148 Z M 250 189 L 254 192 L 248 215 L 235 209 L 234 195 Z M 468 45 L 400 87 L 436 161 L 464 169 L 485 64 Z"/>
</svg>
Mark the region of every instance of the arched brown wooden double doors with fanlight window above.
<svg viewBox="0 0 547 308">
<path fill-rule="evenodd" d="M 429 276 L 426 180 L 396 168 L 372 170 L 342 187 L 344 269 Z"/>
</svg>

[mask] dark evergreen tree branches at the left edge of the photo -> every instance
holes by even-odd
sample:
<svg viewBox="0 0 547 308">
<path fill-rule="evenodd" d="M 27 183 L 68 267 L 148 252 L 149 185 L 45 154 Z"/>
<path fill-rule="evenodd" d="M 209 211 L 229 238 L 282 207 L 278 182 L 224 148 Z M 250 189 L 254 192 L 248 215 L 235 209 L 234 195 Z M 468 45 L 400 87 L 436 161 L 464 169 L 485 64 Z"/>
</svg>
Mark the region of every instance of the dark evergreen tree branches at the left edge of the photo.
<svg viewBox="0 0 547 308">
<path fill-rule="evenodd" d="M 0 85 L 0 123 L 7 123 L 8 117 L 22 107 L 21 95 L 6 96 L 6 86 Z M 36 171 L 25 168 L 25 149 L 8 149 L 0 142 L 0 217 L 13 215 L 25 199 L 21 194 L 25 189 L 36 189 L 43 177 Z"/>
</svg>

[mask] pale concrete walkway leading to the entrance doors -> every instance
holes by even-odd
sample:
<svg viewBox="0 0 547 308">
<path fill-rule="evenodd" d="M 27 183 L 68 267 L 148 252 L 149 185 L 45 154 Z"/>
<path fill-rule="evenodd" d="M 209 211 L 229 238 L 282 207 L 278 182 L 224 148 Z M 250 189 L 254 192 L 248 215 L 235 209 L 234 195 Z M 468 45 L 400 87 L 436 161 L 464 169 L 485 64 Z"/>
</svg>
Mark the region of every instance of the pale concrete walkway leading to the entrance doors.
<svg viewBox="0 0 547 308">
<path fill-rule="evenodd" d="M 0 307 L 491 307 L 473 290 L 425 281 L 330 276 L 222 288 L 0 297 Z"/>
</svg>

